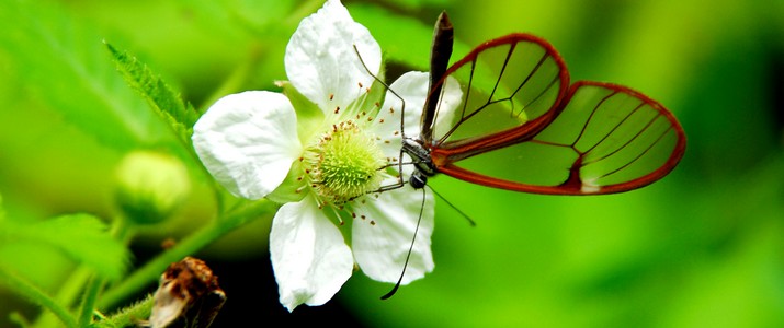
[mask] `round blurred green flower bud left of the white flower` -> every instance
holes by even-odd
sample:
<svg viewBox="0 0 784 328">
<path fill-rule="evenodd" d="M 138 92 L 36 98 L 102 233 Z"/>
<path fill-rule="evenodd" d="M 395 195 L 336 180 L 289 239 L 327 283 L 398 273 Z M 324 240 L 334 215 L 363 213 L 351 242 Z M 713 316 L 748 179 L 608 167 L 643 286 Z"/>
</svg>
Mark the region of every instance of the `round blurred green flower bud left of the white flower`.
<svg viewBox="0 0 784 328">
<path fill-rule="evenodd" d="M 164 153 L 134 151 L 117 166 L 115 203 L 137 224 L 158 223 L 171 216 L 190 191 L 188 169 Z"/>
</svg>

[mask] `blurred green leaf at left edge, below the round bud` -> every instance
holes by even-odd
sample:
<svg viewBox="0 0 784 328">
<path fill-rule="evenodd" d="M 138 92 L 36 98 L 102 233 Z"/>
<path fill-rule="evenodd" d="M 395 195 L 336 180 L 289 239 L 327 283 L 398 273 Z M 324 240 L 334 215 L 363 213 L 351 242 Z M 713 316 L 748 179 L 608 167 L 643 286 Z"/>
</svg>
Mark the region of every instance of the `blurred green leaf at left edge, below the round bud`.
<svg viewBox="0 0 784 328">
<path fill-rule="evenodd" d="M 53 246 L 107 280 L 120 279 L 128 265 L 125 246 L 90 214 L 63 215 L 34 224 L 0 222 L 0 243 L 14 242 Z"/>
</svg>

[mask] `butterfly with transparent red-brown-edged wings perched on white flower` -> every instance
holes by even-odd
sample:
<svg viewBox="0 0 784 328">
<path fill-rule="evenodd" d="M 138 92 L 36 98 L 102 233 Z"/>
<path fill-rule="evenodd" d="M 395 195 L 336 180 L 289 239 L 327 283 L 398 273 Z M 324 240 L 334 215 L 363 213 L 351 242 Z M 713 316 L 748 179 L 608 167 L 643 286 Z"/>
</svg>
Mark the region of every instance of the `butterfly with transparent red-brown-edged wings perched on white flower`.
<svg viewBox="0 0 784 328">
<path fill-rule="evenodd" d="M 443 12 L 419 136 L 404 133 L 412 187 L 442 173 L 513 191 L 615 194 L 664 177 L 683 156 L 685 133 L 664 106 L 618 84 L 570 83 L 545 39 L 509 34 L 447 68 L 453 38 Z M 447 113 L 444 94 L 458 83 L 461 102 Z"/>
</svg>

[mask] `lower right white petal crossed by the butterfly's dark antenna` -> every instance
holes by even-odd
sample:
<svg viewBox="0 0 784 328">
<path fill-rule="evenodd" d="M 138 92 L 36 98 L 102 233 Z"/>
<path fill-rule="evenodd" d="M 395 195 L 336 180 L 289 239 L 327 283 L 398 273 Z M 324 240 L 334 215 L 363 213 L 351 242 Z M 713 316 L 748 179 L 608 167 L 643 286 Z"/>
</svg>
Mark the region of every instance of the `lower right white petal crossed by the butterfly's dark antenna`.
<svg viewBox="0 0 784 328">
<path fill-rule="evenodd" d="M 409 186 L 383 192 L 378 199 L 367 197 L 364 209 L 355 209 L 357 218 L 352 231 L 352 249 L 362 271 L 377 281 L 397 282 L 404 273 L 414 231 L 417 238 L 401 284 L 433 271 L 430 237 L 434 204 L 433 195 L 428 194 L 422 208 L 421 190 Z"/>
</svg>

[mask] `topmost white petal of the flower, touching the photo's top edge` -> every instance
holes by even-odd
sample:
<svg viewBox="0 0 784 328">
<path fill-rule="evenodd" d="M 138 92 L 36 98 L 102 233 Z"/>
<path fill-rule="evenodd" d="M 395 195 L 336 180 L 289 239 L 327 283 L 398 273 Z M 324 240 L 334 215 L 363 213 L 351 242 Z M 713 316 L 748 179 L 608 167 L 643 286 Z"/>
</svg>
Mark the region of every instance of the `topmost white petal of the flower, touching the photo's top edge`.
<svg viewBox="0 0 784 328">
<path fill-rule="evenodd" d="M 374 81 L 354 45 L 370 71 L 377 74 L 382 52 L 376 40 L 365 26 L 354 22 L 340 1 L 327 1 L 299 23 L 288 42 L 285 55 L 288 80 L 325 113 L 345 108 Z"/>
</svg>

